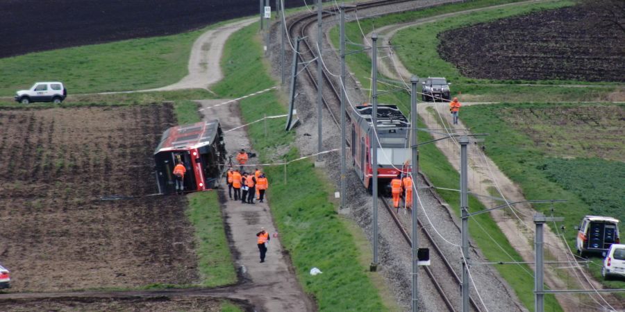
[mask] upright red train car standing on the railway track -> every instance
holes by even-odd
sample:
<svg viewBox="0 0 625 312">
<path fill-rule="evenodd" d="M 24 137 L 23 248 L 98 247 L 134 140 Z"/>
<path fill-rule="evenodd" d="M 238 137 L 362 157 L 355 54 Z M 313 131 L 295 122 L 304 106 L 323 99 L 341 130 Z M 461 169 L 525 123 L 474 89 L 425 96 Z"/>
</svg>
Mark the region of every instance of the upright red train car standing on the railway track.
<svg viewBox="0 0 625 312">
<path fill-rule="evenodd" d="M 351 158 L 353 168 L 365 187 L 372 191 L 372 148 L 376 141 L 372 123 L 373 108 L 356 106 L 351 112 Z M 378 105 L 377 139 L 380 146 L 378 155 L 378 189 L 380 193 L 390 193 L 390 181 L 400 173 L 410 171 L 407 166 L 411 158 L 409 144 L 410 123 L 397 105 Z"/>
</svg>

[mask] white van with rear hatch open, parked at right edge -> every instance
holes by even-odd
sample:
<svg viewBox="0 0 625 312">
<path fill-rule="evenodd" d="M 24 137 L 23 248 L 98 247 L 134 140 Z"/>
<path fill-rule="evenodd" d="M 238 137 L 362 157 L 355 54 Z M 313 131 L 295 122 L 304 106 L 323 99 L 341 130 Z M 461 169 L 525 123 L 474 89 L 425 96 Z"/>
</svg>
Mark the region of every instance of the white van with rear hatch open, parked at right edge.
<svg viewBox="0 0 625 312">
<path fill-rule="evenodd" d="M 619 220 L 606 216 L 585 216 L 577 228 L 577 253 L 601 254 L 610 245 L 620 243 Z"/>
</svg>

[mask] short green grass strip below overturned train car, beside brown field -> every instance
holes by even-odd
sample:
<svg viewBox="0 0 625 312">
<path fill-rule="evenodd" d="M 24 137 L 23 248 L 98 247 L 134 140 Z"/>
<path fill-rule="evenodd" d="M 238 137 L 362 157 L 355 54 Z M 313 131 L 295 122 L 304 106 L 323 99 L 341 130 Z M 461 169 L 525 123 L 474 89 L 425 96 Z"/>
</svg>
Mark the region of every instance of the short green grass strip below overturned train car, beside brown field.
<svg viewBox="0 0 625 312">
<path fill-rule="evenodd" d="M 188 196 L 187 215 L 195 227 L 198 242 L 198 268 L 201 286 L 216 287 L 235 284 L 237 273 L 224 230 L 222 209 L 216 191 L 192 193 Z"/>
</svg>

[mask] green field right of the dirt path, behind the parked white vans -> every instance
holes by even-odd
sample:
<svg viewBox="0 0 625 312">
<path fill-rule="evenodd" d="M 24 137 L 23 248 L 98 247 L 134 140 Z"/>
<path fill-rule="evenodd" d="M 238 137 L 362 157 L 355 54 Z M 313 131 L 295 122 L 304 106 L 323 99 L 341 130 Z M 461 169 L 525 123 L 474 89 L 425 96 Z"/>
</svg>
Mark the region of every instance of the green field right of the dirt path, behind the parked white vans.
<svg viewBox="0 0 625 312">
<path fill-rule="evenodd" d="M 549 130 L 549 135 L 543 137 L 542 143 L 537 144 L 529 134 L 535 134 L 536 130 L 544 125 L 540 123 L 528 123 L 528 127 L 522 125 L 512 125 L 506 116 L 512 111 L 521 114 L 519 110 L 534 110 L 541 112 L 547 108 L 554 109 L 554 105 L 549 104 L 501 104 L 501 105 L 476 105 L 463 108 L 462 121 L 475 132 L 487 132 L 491 136 L 488 138 L 486 149 L 487 155 L 499 166 L 511 180 L 519 184 L 523 193 L 528 199 L 564 199 L 565 204 L 554 205 L 556 216 L 565 217 L 564 224 L 565 239 L 573 251 L 575 247 L 575 237 L 577 231 L 574 229 L 583 216 L 587 214 L 607 215 L 622 219 L 622 207 L 625 205 L 622 186 L 625 184 L 625 166 L 622 161 L 608 161 L 604 159 L 575 158 L 562 159 L 562 149 L 558 145 L 565 142 L 569 153 L 567 157 L 583 157 L 592 153 L 593 150 L 605 148 L 601 143 L 601 137 L 581 140 L 579 137 L 570 137 L 567 128 L 561 126 L 559 132 Z M 589 110 L 596 110 L 597 107 L 591 105 L 560 105 L 560 107 L 588 107 Z M 608 111 L 615 111 L 623 105 L 613 105 Z M 542 115 L 547 116 L 547 115 Z M 560 116 L 562 118 L 563 116 Z M 581 116 L 583 117 L 583 116 Z M 553 120 L 544 120 L 546 124 L 553 124 Z M 599 125 L 569 125 L 570 132 L 575 132 L 573 128 L 585 127 L 589 131 L 606 128 Z M 592 133 L 592 132 L 590 132 Z M 565 137 L 560 137 L 565 135 Z M 547 146 L 552 146 L 548 150 Z M 581 146 L 579 150 L 576 147 Z M 594 147 L 594 148 L 591 148 Z M 622 144 L 617 144 L 617 148 L 623 150 Z M 590 149 L 590 150 L 589 150 Z M 624 151 L 625 152 L 625 151 Z M 623 155 L 620 153 L 620 155 Z M 622 156 L 621 156 L 622 157 Z M 612 189 L 610 192 L 608 190 Z M 595 194 L 595 196 L 593 196 Z M 596 196 L 596 194 L 603 194 Z M 535 209 L 544 214 L 551 214 L 548 205 L 537 205 Z M 553 225 L 552 225 L 552 228 Z M 558 227 L 555 227 L 558 228 Z M 619 224 L 621 233 L 625 226 Z M 621 235 L 623 237 L 623 235 Z M 599 256 L 599 255 L 597 255 Z M 594 277 L 601 280 L 600 257 L 591 258 L 590 270 Z M 625 281 L 606 281 L 609 288 L 624 288 Z"/>
</svg>

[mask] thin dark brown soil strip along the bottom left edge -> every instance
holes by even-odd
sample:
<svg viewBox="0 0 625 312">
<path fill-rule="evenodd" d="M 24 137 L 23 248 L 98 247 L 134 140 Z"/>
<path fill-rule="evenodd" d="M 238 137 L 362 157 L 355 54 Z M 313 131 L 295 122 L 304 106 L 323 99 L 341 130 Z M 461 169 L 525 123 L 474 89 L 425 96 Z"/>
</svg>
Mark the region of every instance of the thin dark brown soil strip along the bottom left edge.
<svg viewBox="0 0 625 312">
<path fill-rule="evenodd" d="M 127 298 L 48 298 L 44 300 L 3 300 L 0 310 L 26 311 L 220 311 L 223 300 L 208 297 L 127 297 Z"/>
</svg>

